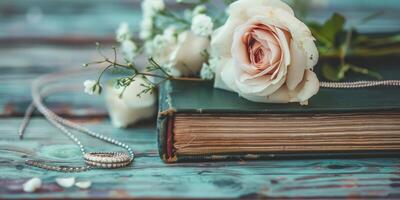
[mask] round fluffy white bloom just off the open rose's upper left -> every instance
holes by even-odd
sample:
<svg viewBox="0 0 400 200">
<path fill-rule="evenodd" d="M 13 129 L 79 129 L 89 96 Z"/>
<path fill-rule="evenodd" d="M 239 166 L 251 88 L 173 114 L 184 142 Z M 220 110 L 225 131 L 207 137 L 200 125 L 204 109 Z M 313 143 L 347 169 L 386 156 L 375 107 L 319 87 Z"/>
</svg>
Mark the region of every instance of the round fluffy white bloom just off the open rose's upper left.
<svg viewBox="0 0 400 200">
<path fill-rule="evenodd" d="M 202 37 L 208 37 L 213 32 L 214 24 L 211 17 L 205 14 L 199 14 L 192 19 L 192 31 L 194 34 Z"/>
</svg>

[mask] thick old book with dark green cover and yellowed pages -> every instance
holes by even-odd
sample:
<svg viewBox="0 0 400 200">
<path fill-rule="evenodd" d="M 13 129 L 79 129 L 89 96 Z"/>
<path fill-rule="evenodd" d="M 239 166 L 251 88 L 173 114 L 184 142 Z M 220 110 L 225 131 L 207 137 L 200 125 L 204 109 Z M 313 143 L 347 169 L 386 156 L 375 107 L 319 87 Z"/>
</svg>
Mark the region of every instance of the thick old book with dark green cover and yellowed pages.
<svg viewBox="0 0 400 200">
<path fill-rule="evenodd" d="M 160 88 L 158 141 L 166 162 L 399 155 L 398 88 L 321 89 L 309 106 L 261 104 L 211 82 Z"/>
</svg>

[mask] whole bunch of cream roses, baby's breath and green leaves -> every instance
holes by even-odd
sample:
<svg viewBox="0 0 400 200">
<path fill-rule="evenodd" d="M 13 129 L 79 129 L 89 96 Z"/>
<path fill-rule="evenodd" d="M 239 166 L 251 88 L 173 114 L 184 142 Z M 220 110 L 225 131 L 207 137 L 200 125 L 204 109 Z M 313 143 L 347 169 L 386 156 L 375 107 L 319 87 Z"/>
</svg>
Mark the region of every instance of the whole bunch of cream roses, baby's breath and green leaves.
<svg viewBox="0 0 400 200">
<path fill-rule="evenodd" d="M 331 85 L 321 83 L 321 78 L 342 81 L 349 72 L 383 78 L 350 63 L 348 57 L 400 53 L 398 35 L 360 34 L 353 25 L 345 28 L 346 19 L 338 13 L 322 24 L 306 23 L 281 0 L 176 3 L 182 9 L 168 9 L 163 0 L 142 1 L 140 30 L 132 31 L 122 23 L 116 31 L 123 61 L 117 59 L 116 48 L 114 58 L 108 58 L 97 44 L 103 59 L 84 65 L 106 65 L 97 80 L 85 82 L 89 94 L 102 92 L 104 72 L 129 72 L 106 87 L 107 105 L 117 127 L 152 116 L 154 91 L 168 80 L 213 80 L 215 88 L 252 102 L 307 105 L 321 86 Z M 377 16 L 372 13 L 360 23 Z M 144 69 L 136 65 L 139 55 L 149 57 Z M 337 61 L 321 62 L 323 77 L 314 72 L 320 58 Z"/>
</svg>

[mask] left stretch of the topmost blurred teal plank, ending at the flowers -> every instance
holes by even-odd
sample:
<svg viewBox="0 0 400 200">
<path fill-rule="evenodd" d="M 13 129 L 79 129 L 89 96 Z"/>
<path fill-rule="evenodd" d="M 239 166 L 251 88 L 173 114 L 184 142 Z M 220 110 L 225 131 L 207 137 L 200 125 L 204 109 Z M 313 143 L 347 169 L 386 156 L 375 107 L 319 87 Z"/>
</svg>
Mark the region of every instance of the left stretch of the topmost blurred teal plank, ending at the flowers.
<svg viewBox="0 0 400 200">
<path fill-rule="evenodd" d="M 1 1 L 0 37 L 108 37 L 122 21 L 139 24 L 139 3 L 138 0 Z"/>
</svg>

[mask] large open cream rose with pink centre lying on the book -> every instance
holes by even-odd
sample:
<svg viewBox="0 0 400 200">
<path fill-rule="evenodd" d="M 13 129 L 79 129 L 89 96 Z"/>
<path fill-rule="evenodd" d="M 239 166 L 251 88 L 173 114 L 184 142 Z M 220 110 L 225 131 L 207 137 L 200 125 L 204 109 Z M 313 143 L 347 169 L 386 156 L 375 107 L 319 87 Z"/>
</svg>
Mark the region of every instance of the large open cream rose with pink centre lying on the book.
<svg viewBox="0 0 400 200">
<path fill-rule="evenodd" d="M 239 0 L 216 30 L 215 87 L 262 103 L 300 102 L 319 90 L 318 51 L 309 28 L 280 0 Z"/>
</svg>

